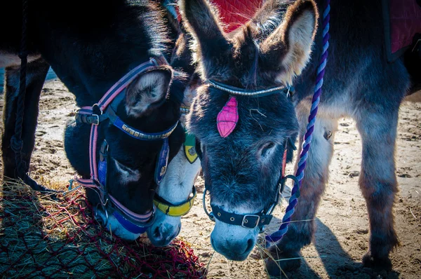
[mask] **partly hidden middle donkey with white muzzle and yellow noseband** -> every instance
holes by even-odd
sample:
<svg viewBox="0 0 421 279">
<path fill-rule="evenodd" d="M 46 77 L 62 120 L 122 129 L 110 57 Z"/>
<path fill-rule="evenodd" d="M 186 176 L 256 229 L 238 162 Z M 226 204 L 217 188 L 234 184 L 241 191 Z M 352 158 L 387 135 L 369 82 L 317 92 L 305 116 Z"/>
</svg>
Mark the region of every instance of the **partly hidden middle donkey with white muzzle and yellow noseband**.
<svg viewBox="0 0 421 279">
<path fill-rule="evenodd" d="M 189 48 L 192 38 L 182 24 L 180 24 L 178 34 L 175 48 L 173 48 L 171 65 L 182 69 L 189 76 L 180 117 L 180 125 L 185 128 L 185 114 L 189 111 L 196 95 L 196 88 L 201 81 L 199 76 L 194 74 L 195 65 L 192 64 L 192 51 Z M 181 217 L 186 215 L 194 204 L 196 197 L 194 182 L 201 169 L 195 147 L 194 136 L 186 134 L 184 144 L 168 164 L 166 175 L 156 189 L 154 203 L 158 210 L 156 210 L 154 224 L 147 230 L 149 240 L 154 245 L 168 245 L 173 238 L 178 236 L 181 230 Z"/>
</svg>

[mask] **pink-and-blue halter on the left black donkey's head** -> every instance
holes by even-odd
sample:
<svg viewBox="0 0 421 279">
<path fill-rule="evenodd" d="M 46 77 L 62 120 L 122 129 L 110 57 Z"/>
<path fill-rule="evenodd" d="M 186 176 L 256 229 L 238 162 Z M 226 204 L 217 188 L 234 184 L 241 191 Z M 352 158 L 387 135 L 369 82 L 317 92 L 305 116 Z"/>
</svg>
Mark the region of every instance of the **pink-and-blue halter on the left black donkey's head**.
<svg viewBox="0 0 421 279">
<path fill-rule="evenodd" d="M 163 132 L 147 133 L 131 127 L 124 123 L 116 110 L 121 100 L 126 96 L 126 88 L 140 74 L 156 69 L 161 65 L 168 64 L 163 57 L 151 58 L 149 61 L 140 64 L 128 72 L 123 78 L 117 81 L 112 88 L 101 98 L 101 100 L 92 107 L 82 107 L 76 111 L 76 121 L 91 125 L 91 136 L 89 140 L 89 165 L 91 169 L 91 179 L 81 179 L 76 177 L 76 181 L 86 188 L 95 189 L 100 196 L 100 205 L 105 210 L 106 222 L 108 220 L 107 203 L 111 205 L 112 215 L 119 223 L 131 233 L 144 233 L 148 226 L 154 222 L 155 207 L 149 212 L 140 215 L 126 206 L 122 205 L 114 198 L 107 189 L 107 165 L 109 160 L 109 145 L 103 140 L 100 147 L 100 161 L 97 163 L 97 144 L 98 144 L 98 125 L 104 121 L 109 121 L 109 125 L 114 125 L 127 135 L 137 140 L 162 140 L 163 144 L 158 155 L 155 167 L 155 182 L 159 184 L 163 179 L 168 165 L 169 144 L 168 137 L 175 130 L 178 121 Z"/>
</svg>

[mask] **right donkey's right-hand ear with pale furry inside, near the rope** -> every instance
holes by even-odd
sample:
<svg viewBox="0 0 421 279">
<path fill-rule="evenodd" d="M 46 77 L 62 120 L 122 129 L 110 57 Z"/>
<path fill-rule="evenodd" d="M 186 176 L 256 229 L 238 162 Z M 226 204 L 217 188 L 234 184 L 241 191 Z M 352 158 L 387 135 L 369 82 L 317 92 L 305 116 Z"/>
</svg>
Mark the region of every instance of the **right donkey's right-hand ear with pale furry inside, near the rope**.
<svg viewBox="0 0 421 279">
<path fill-rule="evenodd" d="M 261 43 L 263 64 L 279 71 L 279 81 L 291 84 L 309 61 L 319 13 L 313 0 L 288 7 L 281 25 Z"/>
</svg>

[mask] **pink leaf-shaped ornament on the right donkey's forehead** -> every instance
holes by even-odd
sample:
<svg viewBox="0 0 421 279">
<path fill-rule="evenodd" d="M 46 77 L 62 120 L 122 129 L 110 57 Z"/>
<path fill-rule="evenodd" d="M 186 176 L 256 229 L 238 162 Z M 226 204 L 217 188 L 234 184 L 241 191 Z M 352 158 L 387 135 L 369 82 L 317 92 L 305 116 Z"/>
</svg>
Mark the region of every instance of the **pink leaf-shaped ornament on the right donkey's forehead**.
<svg viewBox="0 0 421 279">
<path fill-rule="evenodd" d="M 235 97 L 229 97 L 228 102 L 222 107 L 216 118 L 216 125 L 221 137 L 228 137 L 239 121 L 239 111 Z"/>
</svg>

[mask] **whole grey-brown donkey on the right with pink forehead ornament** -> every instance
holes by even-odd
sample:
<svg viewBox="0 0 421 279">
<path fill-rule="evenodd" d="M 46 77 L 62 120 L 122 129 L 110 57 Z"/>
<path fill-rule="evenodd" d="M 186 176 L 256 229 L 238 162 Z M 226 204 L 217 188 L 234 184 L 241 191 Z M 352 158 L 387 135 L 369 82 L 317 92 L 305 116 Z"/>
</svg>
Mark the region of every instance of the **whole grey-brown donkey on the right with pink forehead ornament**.
<svg viewBox="0 0 421 279">
<path fill-rule="evenodd" d="M 302 145 L 322 51 L 321 30 L 316 32 L 316 25 L 323 2 L 267 1 L 255 18 L 229 35 L 222 31 L 218 11 L 206 0 L 181 2 L 205 81 L 197 90 L 187 127 L 201 142 L 201 165 L 216 222 L 210 241 L 228 259 L 246 259 L 258 237 L 258 224 L 266 222 L 265 212 L 276 203 L 288 138 L 299 133 Z M 267 261 L 273 275 L 280 272 L 278 264 L 284 270 L 298 268 L 301 248 L 312 241 L 338 118 L 343 116 L 354 118 L 363 142 L 359 185 L 370 218 L 370 244 L 363 263 L 391 266 L 389 252 L 399 244 L 392 212 L 398 191 L 396 125 L 399 105 L 410 88 L 410 74 L 403 60 L 386 61 L 379 31 L 380 2 L 338 0 L 331 4 L 330 56 L 301 196 L 292 218 L 312 221 L 291 223 L 286 236 L 271 247 L 274 259 L 293 258 L 276 264 Z M 288 86 L 292 85 L 295 94 L 290 100 Z M 276 90 L 259 97 L 244 94 L 271 88 Z M 229 96 L 236 97 L 236 104 L 227 103 L 232 100 Z M 218 132 L 218 114 L 233 107 L 238 111 L 234 130 L 229 135 Z"/>
</svg>

